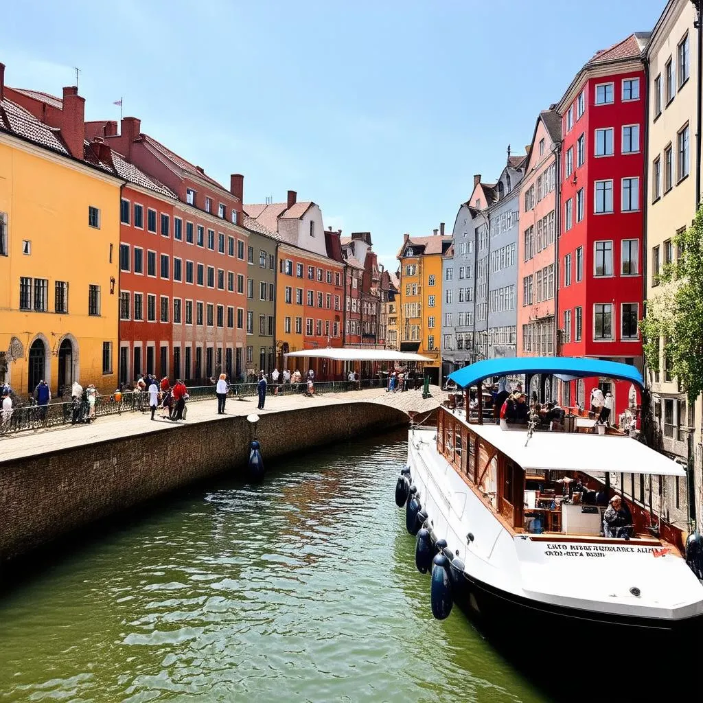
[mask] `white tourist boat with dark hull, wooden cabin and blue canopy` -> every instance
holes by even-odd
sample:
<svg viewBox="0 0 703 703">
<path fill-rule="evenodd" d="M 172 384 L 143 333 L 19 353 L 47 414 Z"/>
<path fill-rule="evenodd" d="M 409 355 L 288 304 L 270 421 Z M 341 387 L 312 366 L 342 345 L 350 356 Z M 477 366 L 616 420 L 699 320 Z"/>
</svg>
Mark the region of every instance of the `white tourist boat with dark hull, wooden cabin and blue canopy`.
<svg viewBox="0 0 703 703">
<path fill-rule="evenodd" d="M 491 359 L 449 376 L 465 392 L 477 387 L 477 420 L 442 406 L 437 427 L 411 426 L 396 489 L 418 569 L 432 572 L 435 616 L 457 601 L 525 650 L 545 635 L 557 650 L 592 636 L 620 650 L 640 635 L 703 631 L 703 581 L 683 555 L 685 534 L 632 497 L 650 475 L 685 476 L 682 467 L 616 430 L 596 433 L 586 418 L 569 415 L 553 431 L 482 420 L 482 382 L 523 374 L 529 389 L 536 373 L 643 387 L 633 366 L 564 357 Z M 619 538 L 602 531 L 615 495 L 633 518 Z"/>
</svg>

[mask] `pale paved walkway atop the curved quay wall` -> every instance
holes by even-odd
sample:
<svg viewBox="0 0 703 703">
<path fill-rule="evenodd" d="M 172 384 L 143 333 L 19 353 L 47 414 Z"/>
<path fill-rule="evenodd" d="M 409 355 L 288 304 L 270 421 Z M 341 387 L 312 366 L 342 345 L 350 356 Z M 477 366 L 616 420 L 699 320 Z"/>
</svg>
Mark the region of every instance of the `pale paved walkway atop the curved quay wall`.
<svg viewBox="0 0 703 703">
<path fill-rule="evenodd" d="M 249 415 L 250 413 L 280 413 L 298 408 L 320 407 L 343 403 L 378 403 L 393 406 L 405 413 L 417 411 L 425 413 L 437 408 L 446 394 L 437 386 L 430 386 L 430 398 L 423 399 L 422 389 L 413 391 L 387 393 L 382 388 L 369 388 L 342 393 L 325 393 L 309 398 L 303 394 L 283 396 L 266 396 L 263 411 L 257 410 L 256 398 L 238 400 L 228 398 L 226 415 L 217 415 L 217 398 L 212 400 L 192 401 L 188 404 L 187 420 L 184 422 L 204 423 L 212 420 L 224 420 L 228 415 Z M 118 437 L 129 437 L 140 432 L 177 431 L 183 423 L 173 423 L 159 418 L 160 412 L 152 422 L 150 413 L 128 412 L 122 415 L 105 415 L 90 425 L 65 425 L 49 430 L 26 432 L 0 439 L 0 465 L 8 460 L 41 453 L 52 453 L 80 444 L 92 444 Z"/>
</svg>

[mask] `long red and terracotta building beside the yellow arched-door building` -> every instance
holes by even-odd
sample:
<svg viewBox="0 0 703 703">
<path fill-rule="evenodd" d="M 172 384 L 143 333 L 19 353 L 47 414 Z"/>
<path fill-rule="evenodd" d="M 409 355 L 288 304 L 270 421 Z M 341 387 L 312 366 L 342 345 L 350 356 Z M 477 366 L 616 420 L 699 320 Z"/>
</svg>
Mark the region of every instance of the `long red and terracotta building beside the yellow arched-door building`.
<svg viewBox="0 0 703 703">
<path fill-rule="evenodd" d="M 148 373 L 151 359 L 153 370 L 169 378 L 198 383 L 222 371 L 239 378 L 250 257 L 247 230 L 240 226 L 243 176 L 233 174 L 227 191 L 201 167 L 143 134 L 136 117 L 124 117 L 119 134 L 117 122 L 87 122 L 86 136 L 101 139 L 174 195 L 147 202 L 141 191 L 123 193 L 122 213 L 131 217 L 122 223 L 124 245 L 133 266 L 134 247 L 143 249 L 146 273 L 134 280 L 134 271 L 123 269 L 120 290 L 139 292 L 130 288 L 152 280 L 143 299 L 144 319 L 134 319 L 133 302 L 133 318 L 120 324 L 120 380 Z M 141 225 L 134 221 L 135 204 L 141 205 Z M 121 297 L 126 311 L 127 295 Z"/>
</svg>

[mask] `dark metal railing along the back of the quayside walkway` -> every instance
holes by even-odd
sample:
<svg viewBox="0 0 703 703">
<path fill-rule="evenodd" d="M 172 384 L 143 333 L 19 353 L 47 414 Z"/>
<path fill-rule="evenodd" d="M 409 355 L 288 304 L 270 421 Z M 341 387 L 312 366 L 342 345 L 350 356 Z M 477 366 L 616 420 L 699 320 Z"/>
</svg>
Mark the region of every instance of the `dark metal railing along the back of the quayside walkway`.
<svg viewBox="0 0 703 703">
<path fill-rule="evenodd" d="M 380 378 L 365 378 L 359 381 L 319 381 L 314 383 L 313 394 L 324 395 L 385 387 L 385 381 Z M 421 385 L 416 386 L 416 388 L 420 387 Z M 266 394 L 269 396 L 308 395 L 307 380 L 302 380 L 299 383 L 269 383 Z M 231 383 L 227 395 L 233 398 L 255 398 L 258 395 L 258 385 L 256 383 Z M 202 400 L 214 401 L 215 398 L 214 385 L 188 388 L 189 403 Z M 37 431 L 46 427 L 90 423 L 105 415 L 146 413 L 148 409 L 149 394 L 146 391 L 123 391 L 121 394 L 100 395 L 97 396 L 92 408 L 84 402 L 78 404 L 73 401 L 53 402 L 40 406 L 32 401 L 15 406 L 10 413 L 0 411 L 0 437 L 27 430 Z"/>
</svg>

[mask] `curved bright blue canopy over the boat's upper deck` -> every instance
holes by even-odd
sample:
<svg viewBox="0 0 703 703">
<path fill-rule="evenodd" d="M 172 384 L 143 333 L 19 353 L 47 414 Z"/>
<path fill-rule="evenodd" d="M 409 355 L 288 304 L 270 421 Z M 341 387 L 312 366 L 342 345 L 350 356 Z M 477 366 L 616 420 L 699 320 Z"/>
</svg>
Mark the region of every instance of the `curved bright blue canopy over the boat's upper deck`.
<svg viewBox="0 0 703 703">
<path fill-rule="evenodd" d="M 644 388 L 642 374 L 626 363 L 588 359 L 585 356 L 512 356 L 502 359 L 486 359 L 472 363 L 449 374 L 449 378 L 461 387 L 472 386 L 493 376 L 546 373 L 571 378 L 606 376 L 619 381 L 630 381 Z"/>
</svg>

